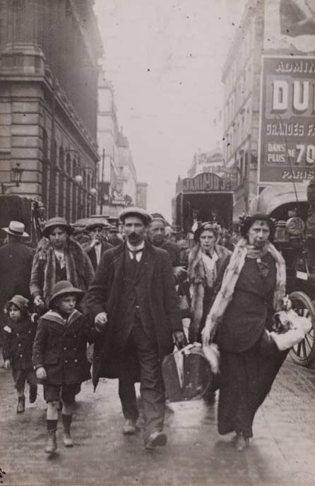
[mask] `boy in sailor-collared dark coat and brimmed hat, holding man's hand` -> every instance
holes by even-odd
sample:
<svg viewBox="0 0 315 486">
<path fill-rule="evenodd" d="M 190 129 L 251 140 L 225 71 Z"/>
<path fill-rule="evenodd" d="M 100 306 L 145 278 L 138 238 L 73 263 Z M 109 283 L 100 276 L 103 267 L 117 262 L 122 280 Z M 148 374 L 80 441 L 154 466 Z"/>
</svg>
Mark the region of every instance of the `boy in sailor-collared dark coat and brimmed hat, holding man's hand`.
<svg viewBox="0 0 315 486">
<path fill-rule="evenodd" d="M 74 288 L 66 280 L 56 283 L 49 300 L 50 310 L 40 318 L 37 326 L 32 362 L 38 381 L 44 385 L 44 399 L 47 401 L 47 453 L 57 449 L 60 396 L 64 445 L 73 446 L 70 426 L 75 397 L 81 390 L 82 381 L 91 377 L 86 343 L 93 343 L 100 333 L 76 309 L 83 295 L 82 290 Z"/>
</svg>

